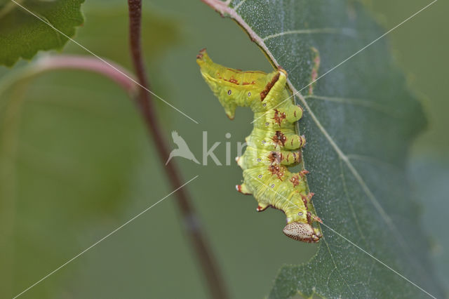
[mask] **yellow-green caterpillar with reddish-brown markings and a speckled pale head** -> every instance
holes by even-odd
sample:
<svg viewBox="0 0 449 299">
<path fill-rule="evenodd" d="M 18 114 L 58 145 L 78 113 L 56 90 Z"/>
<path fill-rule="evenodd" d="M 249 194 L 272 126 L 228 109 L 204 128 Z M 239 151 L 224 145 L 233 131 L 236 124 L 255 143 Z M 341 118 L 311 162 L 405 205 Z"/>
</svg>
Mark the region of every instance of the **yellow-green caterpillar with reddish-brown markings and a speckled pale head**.
<svg viewBox="0 0 449 299">
<path fill-rule="evenodd" d="M 287 166 L 301 160 L 304 136 L 295 133 L 295 121 L 302 117 L 302 108 L 294 105 L 286 88 L 287 72 L 279 67 L 274 72 L 242 72 L 217 65 L 206 53 L 196 56 L 201 74 L 234 119 L 237 106 L 250 107 L 254 112 L 253 132 L 246 138 L 247 148 L 237 164 L 243 169 L 243 184 L 236 189 L 253 194 L 257 211 L 269 206 L 283 211 L 287 217 L 284 234 L 295 240 L 318 242 L 322 237 L 312 213 L 311 197 L 307 193 L 304 175 L 307 171 L 290 173 Z"/>
</svg>

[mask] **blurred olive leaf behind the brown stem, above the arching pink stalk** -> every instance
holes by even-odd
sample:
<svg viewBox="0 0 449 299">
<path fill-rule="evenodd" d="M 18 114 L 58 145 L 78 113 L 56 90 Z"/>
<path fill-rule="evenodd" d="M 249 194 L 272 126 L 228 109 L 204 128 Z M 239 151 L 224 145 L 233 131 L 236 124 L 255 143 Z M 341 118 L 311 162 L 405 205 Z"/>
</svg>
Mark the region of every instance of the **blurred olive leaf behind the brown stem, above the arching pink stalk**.
<svg viewBox="0 0 449 299">
<path fill-rule="evenodd" d="M 108 6 L 105 9 L 105 5 Z M 128 55 L 128 6 L 106 2 L 88 2 L 83 5 L 86 24 L 76 34 L 76 41 L 93 53 L 132 67 Z M 99 38 L 100 37 L 100 38 Z M 170 46 L 180 42 L 180 25 L 175 18 L 163 17 L 148 6 L 142 8 L 142 50 L 145 58 L 152 62 Z M 69 43 L 65 53 L 86 54 L 80 46 Z M 152 65 L 153 67 L 153 65 Z"/>
</svg>

